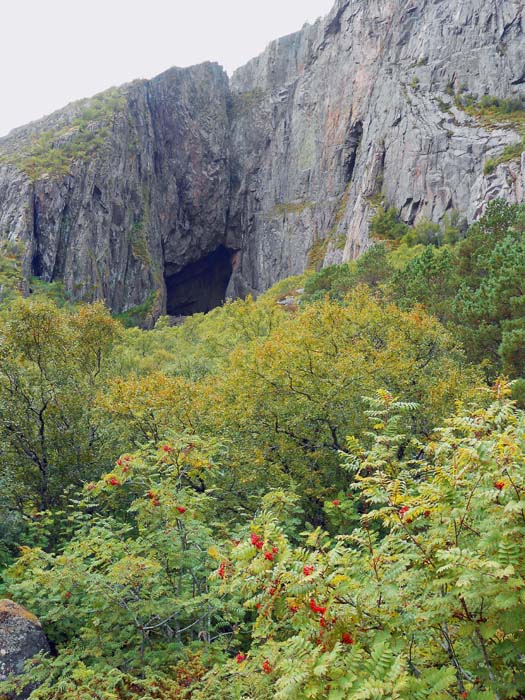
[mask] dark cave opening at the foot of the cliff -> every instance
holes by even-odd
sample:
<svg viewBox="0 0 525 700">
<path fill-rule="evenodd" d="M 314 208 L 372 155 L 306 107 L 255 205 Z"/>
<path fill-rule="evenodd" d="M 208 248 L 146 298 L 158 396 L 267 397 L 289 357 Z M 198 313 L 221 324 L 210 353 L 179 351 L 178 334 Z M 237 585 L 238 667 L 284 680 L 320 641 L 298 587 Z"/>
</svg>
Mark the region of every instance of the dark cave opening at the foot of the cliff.
<svg viewBox="0 0 525 700">
<path fill-rule="evenodd" d="M 169 316 L 207 313 L 226 299 L 234 251 L 219 246 L 179 272 L 166 275 L 166 312 Z"/>
</svg>

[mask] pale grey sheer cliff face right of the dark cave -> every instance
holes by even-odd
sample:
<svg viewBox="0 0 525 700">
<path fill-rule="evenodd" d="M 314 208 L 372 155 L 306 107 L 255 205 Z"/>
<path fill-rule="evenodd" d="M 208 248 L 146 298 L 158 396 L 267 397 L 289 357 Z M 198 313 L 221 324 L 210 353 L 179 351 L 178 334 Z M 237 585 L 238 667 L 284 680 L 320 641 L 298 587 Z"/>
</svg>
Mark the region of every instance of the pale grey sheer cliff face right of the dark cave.
<svg viewBox="0 0 525 700">
<path fill-rule="evenodd" d="M 261 290 L 304 270 L 308 251 L 354 258 L 378 193 L 409 223 L 522 201 L 523 161 L 483 175 L 521 137 L 487 131 L 450 93 L 525 95 L 524 19 L 518 0 L 338 0 L 239 69 L 232 90 L 254 104 L 233 125 L 237 277 Z"/>
</svg>

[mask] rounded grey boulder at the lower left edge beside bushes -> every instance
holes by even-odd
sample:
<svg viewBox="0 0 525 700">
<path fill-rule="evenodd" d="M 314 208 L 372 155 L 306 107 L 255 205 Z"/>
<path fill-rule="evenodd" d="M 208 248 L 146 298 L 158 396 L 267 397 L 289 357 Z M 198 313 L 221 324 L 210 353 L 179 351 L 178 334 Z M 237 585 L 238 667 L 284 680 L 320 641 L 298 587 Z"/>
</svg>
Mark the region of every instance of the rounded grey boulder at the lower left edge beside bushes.
<svg viewBox="0 0 525 700">
<path fill-rule="evenodd" d="M 0 681 L 19 675 L 24 663 L 39 652 L 49 653 L 49 644 L 37 618 L 12 600 L 0 601 Z M 27 698 L 26 688 L 18 698 Z"/>
</svg>

